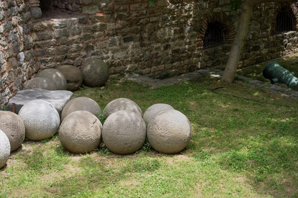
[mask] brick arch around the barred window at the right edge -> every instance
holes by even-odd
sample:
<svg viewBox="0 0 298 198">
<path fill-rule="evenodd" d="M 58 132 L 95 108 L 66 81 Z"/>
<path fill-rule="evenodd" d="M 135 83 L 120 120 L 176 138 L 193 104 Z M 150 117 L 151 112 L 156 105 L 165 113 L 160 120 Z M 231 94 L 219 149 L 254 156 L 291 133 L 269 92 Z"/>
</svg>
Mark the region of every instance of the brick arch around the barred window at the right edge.
<svg viewBox="0 0 298 198">
<path fill-rule="evenodd" d="M 271 35 L 275 34 L 276 17 L 281 10 L 289 11 L 293 16 L 294 31 L 298 31 L 298 3 L 280 3 L 280 6 L 275 10 L 271 21 Z"/>
</svg>

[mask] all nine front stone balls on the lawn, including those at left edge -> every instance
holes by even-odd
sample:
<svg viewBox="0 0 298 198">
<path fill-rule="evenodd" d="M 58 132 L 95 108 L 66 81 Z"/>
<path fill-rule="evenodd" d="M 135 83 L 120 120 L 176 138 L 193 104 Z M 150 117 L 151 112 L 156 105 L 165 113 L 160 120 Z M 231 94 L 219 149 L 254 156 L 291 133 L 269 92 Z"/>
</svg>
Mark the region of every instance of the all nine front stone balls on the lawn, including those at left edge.
<svg viewBox="0 0 298 198">
<path fill-rule="evenodd" d="M 107 118 L 102 125 L 98 117 L 103 114 Z M 0 168 L 25 137 L 41 141 L 57 131 L 62 145 L 74 153 L 94 150 L 103 141 L 114 153 L 130 154 L 142 148 L 147 137 L 156 151 L 172 154 L 183 150 L 191 136 L 188 118 L 172 106 L 154 104 L 143 115 L 138 104 L 126 98 L 114 99 L 103 111 L 93 99 L 75 98 L 65 105 L 61 119 L 51 103 L 36 99 L 18 115 L 0 111 L 0 123 Z"/>
</svg>

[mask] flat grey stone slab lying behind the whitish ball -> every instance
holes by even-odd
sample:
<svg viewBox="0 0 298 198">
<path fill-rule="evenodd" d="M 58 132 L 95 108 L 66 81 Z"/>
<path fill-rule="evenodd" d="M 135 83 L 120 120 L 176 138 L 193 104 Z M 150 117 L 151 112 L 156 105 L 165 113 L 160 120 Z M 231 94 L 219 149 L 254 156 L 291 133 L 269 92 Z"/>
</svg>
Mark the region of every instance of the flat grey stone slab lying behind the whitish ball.
<svg viewBox="0 0 298 198">
<path fill-rule="evenodd" d="M 21 107 L 34 99 L 43 99 L 55 106 L 59 115 L 66 103 L 72 98 L 74 94 L 70 91 L 48 91 L 42 89 L 22 90 L 8 100 L 7 110 L 12 111 L 12 103 L 15 103 L 15 113 L 18 113 Z M 38 108 L 38 106 L 36 107 Z"/>
</svg>

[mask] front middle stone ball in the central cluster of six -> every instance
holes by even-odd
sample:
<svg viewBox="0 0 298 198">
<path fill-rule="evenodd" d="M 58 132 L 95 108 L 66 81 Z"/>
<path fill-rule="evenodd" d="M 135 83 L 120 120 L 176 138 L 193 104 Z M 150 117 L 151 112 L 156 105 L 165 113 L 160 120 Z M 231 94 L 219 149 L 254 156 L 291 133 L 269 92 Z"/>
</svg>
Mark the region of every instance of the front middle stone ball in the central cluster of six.
<svg viewBox="0 0 298 198">
<path fill-rule="evenodd" d="M 104 122 L 102 140 L 114 153 L 130 154 L 145 143 L 146 125 L 142 116 L 133 111 L 121 110 L 111 114 Z"/>
</svg>

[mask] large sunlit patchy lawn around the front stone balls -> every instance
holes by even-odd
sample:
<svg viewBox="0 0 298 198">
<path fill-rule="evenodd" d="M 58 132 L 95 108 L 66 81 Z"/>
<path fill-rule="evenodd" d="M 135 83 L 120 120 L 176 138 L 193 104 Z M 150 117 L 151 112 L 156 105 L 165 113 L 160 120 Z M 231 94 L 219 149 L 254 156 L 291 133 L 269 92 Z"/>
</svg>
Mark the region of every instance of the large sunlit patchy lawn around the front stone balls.
<svg viewBox="0 0 298 198">
<path fill-rule="evenodd" d="M 81 96 L 102 108 L 130 98 L 143 112 L 168 103 L 191 121 L 191 142 L 175 155 L 148 144 L 131 155 L 103 145 L 80 155 L 65 150 L 57 135 L 25 141 L 0 170 L 0 198 L 298 197 L 297 101 L 211 77 L 158 89 L 111 79 L 103 90 L 74 93 Z"/>
</svg>

